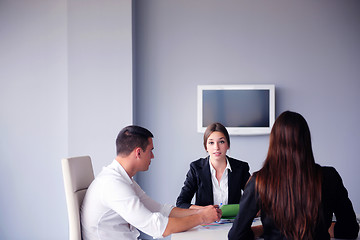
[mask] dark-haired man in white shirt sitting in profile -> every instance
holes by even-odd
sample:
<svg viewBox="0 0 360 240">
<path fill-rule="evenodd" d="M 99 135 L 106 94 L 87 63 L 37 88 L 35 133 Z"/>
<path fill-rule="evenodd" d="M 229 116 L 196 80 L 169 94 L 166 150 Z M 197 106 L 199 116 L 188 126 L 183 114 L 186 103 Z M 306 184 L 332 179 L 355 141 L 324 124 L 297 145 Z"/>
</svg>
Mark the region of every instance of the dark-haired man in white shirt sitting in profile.
<svg viewBox="0 0 360 240">
<path fill-rule="evenodd" d="M 221 217 L 217 206 L 181 209 L 152 200 L 133 180 L 154 158 L 153 135 L 139 126 L 122 129 L 116 139 L 117 157 L 104 167 L 87 190 L 81 206 L 84 240 L 133 240 L 139 230 L 166 237 Z"/>
</svg>

